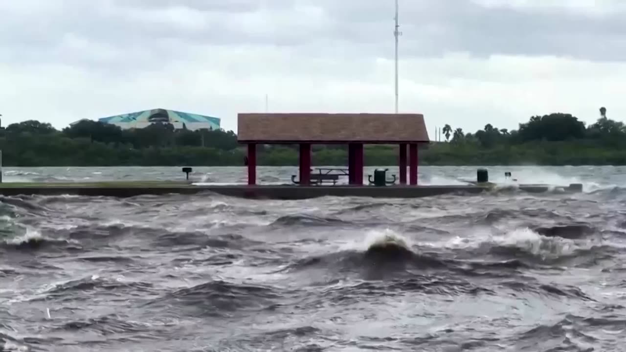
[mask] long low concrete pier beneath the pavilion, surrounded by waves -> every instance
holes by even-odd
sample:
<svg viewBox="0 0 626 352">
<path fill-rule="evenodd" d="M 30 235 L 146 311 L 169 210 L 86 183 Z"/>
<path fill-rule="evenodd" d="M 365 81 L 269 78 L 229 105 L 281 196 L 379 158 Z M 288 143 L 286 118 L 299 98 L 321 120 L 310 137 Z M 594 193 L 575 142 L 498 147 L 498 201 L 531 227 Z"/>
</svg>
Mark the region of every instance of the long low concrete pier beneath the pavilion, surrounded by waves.
<svg viewBox="0 0 626 352">
<path fill-rule="evenodd" d="M 387 187 L 359 185 L 193 185 L 190 182 L 94 182 L 63 184 L 0 184 L 0 195 L 88 195 L 105 197 L 133 197 L 136 195 L 215 194 L 250 199 L 310 199 L 324 196 L 419 198 L 443 194 L 469 195 L 482 192 L 498 193 L 521 191 L 530 193 L 581 192 L 582 185 L 391 185 Z"/>
</svg>

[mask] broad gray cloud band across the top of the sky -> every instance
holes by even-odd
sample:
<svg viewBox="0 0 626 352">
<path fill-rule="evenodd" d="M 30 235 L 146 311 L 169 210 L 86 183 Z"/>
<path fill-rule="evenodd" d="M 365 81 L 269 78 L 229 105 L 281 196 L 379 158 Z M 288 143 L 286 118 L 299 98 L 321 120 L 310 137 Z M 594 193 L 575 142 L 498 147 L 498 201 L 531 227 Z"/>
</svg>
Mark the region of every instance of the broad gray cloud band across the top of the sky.
<svg viewBox="0 0 626 352">
<path fill-rule="evenodd" d="M 404 56 L 464 51 L 475 56 L 626 57 L 623 10 L 589 14 L 568 8 L 486 7 L 469 0 L 400 2 Z M 225 45 L 300 46 L 319 54 L 354 45 L 354 56 L 393 55 L 391 0 L 22 3 L 0 4 L 0 11 L 8 13 L 0 22 L 0 60 L 136 70 L 185 60 L 190 46 Z"/>
</svg>

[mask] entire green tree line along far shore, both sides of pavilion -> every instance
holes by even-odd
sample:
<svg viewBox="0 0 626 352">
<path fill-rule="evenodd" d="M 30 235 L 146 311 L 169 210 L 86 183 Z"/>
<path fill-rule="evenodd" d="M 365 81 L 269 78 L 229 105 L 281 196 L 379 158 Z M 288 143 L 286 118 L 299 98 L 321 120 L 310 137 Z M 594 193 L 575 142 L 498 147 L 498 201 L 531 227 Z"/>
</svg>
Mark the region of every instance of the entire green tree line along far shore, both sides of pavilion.
<svg viewBox="0 0 626 352">
<path fill-rule="evenodd" d="M 592 125 L 567 113 L 531 116 L 517 130 L 491 124 L 474 133 L 445 125 L 446 142 L 421 150 L 423 165 L 626 165 L 626 127 L 607 118 Z M 5 166 L 244 165 L 245 148 L 225 130 L 175 130 L 169 123 L 123 130 L 83 120 L 59 131 L 29 120 L 0 129 Z M 367 165 L 396 165 L 395 145 L 366 146 Z M 297 145 L 259 146 L 260 165 L 297 165 Z M 313 148 L 315 165 L 346 165 L 345 146 Z"/>
</svg>

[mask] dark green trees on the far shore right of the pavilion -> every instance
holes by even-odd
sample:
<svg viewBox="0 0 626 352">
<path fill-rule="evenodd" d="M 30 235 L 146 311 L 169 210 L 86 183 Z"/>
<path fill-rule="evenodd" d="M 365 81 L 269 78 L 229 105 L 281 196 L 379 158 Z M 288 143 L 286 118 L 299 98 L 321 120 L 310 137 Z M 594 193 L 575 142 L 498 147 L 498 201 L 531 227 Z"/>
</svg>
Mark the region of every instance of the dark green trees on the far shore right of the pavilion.
<svg viewBox="0 0 626 352">
<path fill-rule="evenodd" d="M 475 133 L 450 125 L 446 142 L 436 143 L 428 163 L 436 165 L 626 165 L 626 127 L 607 117 L 585 125 L 568 113 L 531 116 L 517 130 L 491 124 Z"/>
</svg>

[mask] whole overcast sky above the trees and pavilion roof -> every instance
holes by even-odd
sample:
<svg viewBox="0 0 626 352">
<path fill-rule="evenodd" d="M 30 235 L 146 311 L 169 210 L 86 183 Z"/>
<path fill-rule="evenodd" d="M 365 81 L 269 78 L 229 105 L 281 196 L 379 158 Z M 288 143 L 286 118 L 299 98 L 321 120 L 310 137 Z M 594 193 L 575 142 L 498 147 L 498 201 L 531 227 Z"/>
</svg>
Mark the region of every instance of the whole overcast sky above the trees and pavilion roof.
<svg viewBox="0 0 626 352">
<path fill-rule="evenodd" d="M 626 118 L 626 1 L 399 0 L 399 110 Z M 3 125 L 151 108 L 393 112 L 393 0 L 0 0 Z"/>
</svg>

